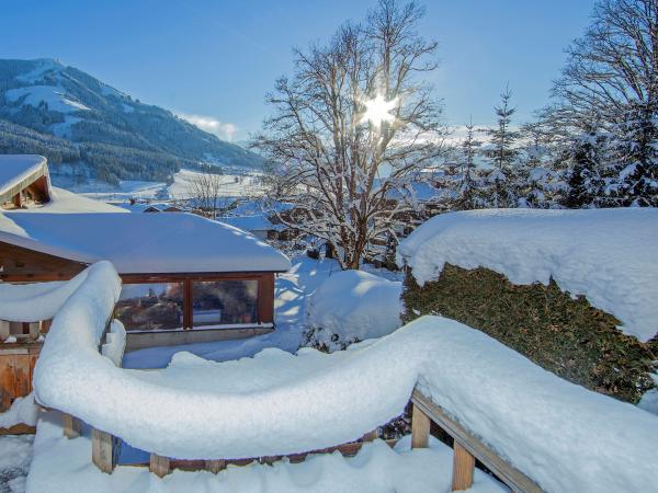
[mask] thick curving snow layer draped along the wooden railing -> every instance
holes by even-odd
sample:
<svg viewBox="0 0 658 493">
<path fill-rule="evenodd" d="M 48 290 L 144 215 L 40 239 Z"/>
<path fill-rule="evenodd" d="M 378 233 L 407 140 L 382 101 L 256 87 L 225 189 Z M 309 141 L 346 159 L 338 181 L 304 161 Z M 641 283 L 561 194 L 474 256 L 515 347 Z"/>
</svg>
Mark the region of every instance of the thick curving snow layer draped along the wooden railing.
<svg viewBox="0 0 658 493">
<path fill-rule="evenodd" d="M 42 404 L 135 447 L 190 459 L 322 448 L 398 415 L 417 387 L 546 491 L 658 484 L 655 415 L 456 321 L 423 317 L 332 354 L 265 349 L 214 363 L 179 353 L 163 370 L 125 370 L 98 348 L 118 290 L 110 264 L 88 270 L 55 317 L 34 386 Z"/>
</svg>

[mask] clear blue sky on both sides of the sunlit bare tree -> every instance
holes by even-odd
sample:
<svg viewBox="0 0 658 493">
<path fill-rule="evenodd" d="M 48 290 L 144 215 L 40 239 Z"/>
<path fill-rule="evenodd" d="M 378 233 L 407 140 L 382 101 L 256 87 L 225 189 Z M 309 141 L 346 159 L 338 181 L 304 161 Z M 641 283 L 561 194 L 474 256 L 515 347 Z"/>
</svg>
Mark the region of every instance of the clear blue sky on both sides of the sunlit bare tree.
<svg viewBox="0 0 658 493">
<path fill-rule="evenodd" d="M 293 46 L 328 38 L 361 0 L 0 0 L 0 58 L 59 58 L 143 102 L 204 117 L 237 140 L 268 113 L 264 94 L 291 71 Z M 589 22 L 593 0 L 421 2 L 420 31 L 439 42 L 431 77 L 445 122 L 494 122 L 509 81 L 517 123 L 548 99 L 564 48 Z"/>
</svg>

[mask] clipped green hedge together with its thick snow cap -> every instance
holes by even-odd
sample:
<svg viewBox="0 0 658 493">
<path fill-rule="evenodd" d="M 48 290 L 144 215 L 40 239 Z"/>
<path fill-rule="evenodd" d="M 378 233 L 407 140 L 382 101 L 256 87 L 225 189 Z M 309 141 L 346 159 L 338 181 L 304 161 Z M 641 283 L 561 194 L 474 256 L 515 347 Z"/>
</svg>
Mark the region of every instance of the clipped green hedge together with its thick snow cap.
<svg viewBox="0 0 658 493">
<path fill-rule="evenodd" d="M 567 380 L 637 402 L 654 387 L 657 231 L 649 209 L 436 217 L 400 248 L 412 267 L 406 321 L 458 320 Z"/>
</svg>

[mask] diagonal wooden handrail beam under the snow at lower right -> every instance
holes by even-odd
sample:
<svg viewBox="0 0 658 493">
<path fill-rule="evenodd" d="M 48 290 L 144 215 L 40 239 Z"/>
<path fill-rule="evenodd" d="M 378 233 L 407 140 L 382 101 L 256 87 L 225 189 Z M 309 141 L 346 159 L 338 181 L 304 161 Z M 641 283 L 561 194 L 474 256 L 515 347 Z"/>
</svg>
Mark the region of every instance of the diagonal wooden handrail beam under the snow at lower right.
<svg viewBox="0 0 658 493">
<path fill-rule="evenodd" d="M 452 419 L 441 406 L 418 390 L 411 395 L 413 408 L 419 408 L 430 419 L 445 429 L 472 456 L 496 474 L 500 481 L 518 493 L 541 493 L 543 490 L 527 475 L 502 459 L 492 448 L 476 438 L 462 424 Z"/>
</svg>

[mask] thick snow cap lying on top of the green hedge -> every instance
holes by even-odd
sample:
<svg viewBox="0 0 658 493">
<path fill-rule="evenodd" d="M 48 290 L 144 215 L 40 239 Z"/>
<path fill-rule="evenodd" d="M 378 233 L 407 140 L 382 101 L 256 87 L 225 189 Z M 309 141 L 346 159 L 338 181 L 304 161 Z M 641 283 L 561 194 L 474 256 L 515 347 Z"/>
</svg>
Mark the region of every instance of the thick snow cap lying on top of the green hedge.
<svg viewBox="0 0 658 493">
<path fill-rule="evenodd" d="M 658 332 L 658 210 L 489 209 L 436 216 L 398 249 L 423 285 L 447 262 L 585 295 L 646 342 Z"/>
</svg>

